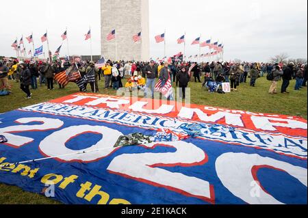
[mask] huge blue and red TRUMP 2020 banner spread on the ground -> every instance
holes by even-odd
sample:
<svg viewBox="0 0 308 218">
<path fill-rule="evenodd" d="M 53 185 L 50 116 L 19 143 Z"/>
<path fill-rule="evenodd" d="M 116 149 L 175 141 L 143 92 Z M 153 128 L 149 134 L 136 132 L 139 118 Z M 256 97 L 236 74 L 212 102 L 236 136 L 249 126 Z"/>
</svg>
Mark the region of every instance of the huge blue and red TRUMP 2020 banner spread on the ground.
<svg viewBox="0 0 308 218">
<path fill-rule="evenodd" d="M 307 204 L 303 118 L 77 93 L 0 135 L 0 182 L 65 204 Z"/>
</svg>

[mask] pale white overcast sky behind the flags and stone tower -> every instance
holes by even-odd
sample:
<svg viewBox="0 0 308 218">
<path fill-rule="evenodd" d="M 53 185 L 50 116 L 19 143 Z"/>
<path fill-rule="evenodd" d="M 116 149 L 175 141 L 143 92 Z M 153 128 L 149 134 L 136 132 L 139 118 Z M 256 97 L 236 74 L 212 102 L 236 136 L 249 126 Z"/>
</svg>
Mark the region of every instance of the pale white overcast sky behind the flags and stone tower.
<svg viewBox="0 0 308 218">
<path fill-rule="evenodd" d="M 125 0 L 123 0 L 125 1 Z M 166 29 L 167 55 L 183 51 L 177 38 L 185 32 L 186 55 L 198 54 L 191 42 L 219 40 L 224 44 L 224 59 L 267 61 L 272 55 L 287 53 L 293 58 L 307 58 L 307 0 L 149 0 L 151 57 L 164 56 L 164 43 L 156 44 L 154 36 Z M 125 14 L 119 14 L 124 16 Z M 12 42 L 34 33 L 36 48 L 48 29 L 50 49 L 62 43 L 60 36 L 68 27 L 70 55 L 89 55 L 84 41 L 89 25 L 92 29 L 93 54 L 100 49 L 99 0 L 27 0 L 1 1 L 0 55 L 16 56 Z M 125 24 L 123 24 L 125 25 Z M 105 36 L 103 36 L 105 37 Z M 44 44 L 47 51 L 47 44 Z M 206 53 L 203 49 L 201 53 Z M 64 42 L 60 55 L 68 53 Z"/>
</svg>

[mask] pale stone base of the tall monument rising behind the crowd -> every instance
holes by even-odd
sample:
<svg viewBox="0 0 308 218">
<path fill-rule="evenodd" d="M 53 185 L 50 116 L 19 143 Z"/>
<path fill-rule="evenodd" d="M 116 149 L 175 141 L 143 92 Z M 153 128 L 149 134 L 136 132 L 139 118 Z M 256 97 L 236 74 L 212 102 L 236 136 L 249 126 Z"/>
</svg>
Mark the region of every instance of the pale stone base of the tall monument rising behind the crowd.
<svg viewBox="0 0 308 218">
<path fill-rule="evenodd" d="M 116 39 L 107 41 L 114 29 Z M 140 31 L 142 39 L 133 42 Z M 149 60 L 149 0 L 101 0 L 101 55 L 112 60 Z"/>
</svg>

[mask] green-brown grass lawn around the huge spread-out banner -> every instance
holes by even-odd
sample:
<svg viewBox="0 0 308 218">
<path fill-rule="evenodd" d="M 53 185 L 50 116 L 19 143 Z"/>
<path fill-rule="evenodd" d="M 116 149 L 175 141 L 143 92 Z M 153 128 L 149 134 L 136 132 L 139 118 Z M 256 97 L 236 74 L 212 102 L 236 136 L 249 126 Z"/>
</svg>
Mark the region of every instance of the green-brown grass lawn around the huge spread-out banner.
<svg viewBox="0 0 308 218">
<path fill-rule="evenodd" d="M 39 87 L 31 90 L 31 99 L 24 99 L 25 94 L 19 89 L 19 83 L 10 81 L 14 94 L 0 97 L 0 113 L 12 111 L 20 107 L 34 105 L 47 100 L 60 98 L 68 94 L 78 92 L 75 83 L 70 83 L 64 90 L 47 90 L 47 87 Z M 103 90 L 103 81 L 99 81 L 101 94 L 115 95 L 113 90 Z M 190 83 L 191 103 L 207 105 L 211 107 L 222 107 L 227 109 L 238 109 L 260 113 L 275 113 L 285 115 L 296 115 L 307 119 L 307 88 L 300 91 L 294 90 L 295 81 L 291 81 L 288 91 L 290 94 L 268 94 L 270 82 L 266 77 L 257 80 L 256 87 L 250 87 L 248 83 L 241 84 L 238 92 L 230 94 L 210 94 L 201 89 L 201 83 Z M 88 85 L 88 89 L 90 85 Z M 281 82 L 278 85 L 280 91 Z M 59 204 L 42 195 L 22 191 L 18 187 L 0 184 L 0 204 Z"/>
</svg>

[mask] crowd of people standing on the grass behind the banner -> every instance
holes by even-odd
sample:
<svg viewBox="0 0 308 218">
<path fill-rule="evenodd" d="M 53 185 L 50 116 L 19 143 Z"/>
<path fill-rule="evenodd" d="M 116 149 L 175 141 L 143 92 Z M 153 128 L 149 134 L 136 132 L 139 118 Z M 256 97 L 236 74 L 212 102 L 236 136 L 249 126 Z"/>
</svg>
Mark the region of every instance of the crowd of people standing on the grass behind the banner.
<svg viewBox="0 0 308 218">
<path fill-rule="evenodd" d="M 288 64 L 266 64 L 248 63 L 234 64 L 228 62 L 207 62 L 197 64 L 196 62 L 181 62 L 170 60 L 166 62 L 112 62 L 108 60 L 103 67 L 97 68 L 95 62 L 77 62 L 77 68 L 81 77 L 93 73 L 93 81 L 85 83 L 85 87 L 90 83 L 92 92 L 99 92 L 99 81 L 105 78 L 105 89 L 118 90 L 120 87 L 127 87 L 130 91 L 134 88 L 144 89 L 144 96 L 154 98 L 154 88 L 157 78 L 162 81 L 162 87 L 168 79 L 181 89 L 181 98 L 185 98 L 185 90 L 188 83 L 201 83 L 202 87 L 209 92 L 220 92 L 222 83 L 230 83 L 231 91 L 237 91 L 241 83 L 249 82 L 251 87 L 257 85 L 257 79 L 267 75 L 267 79 L 272 81 L 269 94 L 277 94 L 278 82 L 282 80 L 281 93 L 287 94 L 290 80 L 296 79 L 294 90 L 300 90 L 307 83 L 307 64 L 290 62 Z M 20 83 L 21 90 L 25 92 L 25 98 L 31 98 L 31 89 L 35 90 L 38 85 L 46 85 L 47 90 L 53 90 L 55 75 L 67 70 L 72 62 L 18 62 L 17 60 L 7 60 L 0 62 L 0 90 L 6 94 L 12 93 L 10 81 Z M 250 81 L 248 81 L 248 78 Z M 123 79 L 126 83 L 123 84 Z M 64 88 L 59 84 L 59 88 Z M 150 90 L 151 93 L 148 93 Z M 85 90 L 80 90 L 84 92 Z"/>
</svg>

